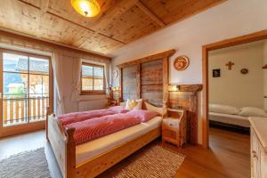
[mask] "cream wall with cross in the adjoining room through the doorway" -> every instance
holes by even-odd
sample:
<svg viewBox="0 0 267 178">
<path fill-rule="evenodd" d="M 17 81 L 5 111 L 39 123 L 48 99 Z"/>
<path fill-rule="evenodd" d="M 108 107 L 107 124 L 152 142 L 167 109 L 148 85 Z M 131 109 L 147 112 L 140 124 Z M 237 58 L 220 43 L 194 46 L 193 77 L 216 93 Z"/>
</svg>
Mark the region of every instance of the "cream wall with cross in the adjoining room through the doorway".
<svg viewBox="0 0 267 178">
<path fill-rule="evenodd" d="M 225 64 L 234 63 L 229 70 Z M 208 54 L 209 103 L 263 109 L 263 40 Z M 248 69 L 247 75 L 241 69 Z M 213 77 L 221 69 L 221 77 Z"/>
</svg>

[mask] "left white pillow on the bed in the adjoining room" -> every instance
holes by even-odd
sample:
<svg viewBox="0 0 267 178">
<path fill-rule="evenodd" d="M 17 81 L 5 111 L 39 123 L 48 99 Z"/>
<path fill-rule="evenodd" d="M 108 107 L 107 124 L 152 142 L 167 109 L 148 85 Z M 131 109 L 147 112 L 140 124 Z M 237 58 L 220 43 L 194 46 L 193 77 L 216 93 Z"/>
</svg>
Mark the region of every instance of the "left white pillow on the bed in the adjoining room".
<svg viewBox="0 0 267 178">
<path fill-rule="evenodd" d="M 238 108 L 228 106 L 228 105 L 223 105 L 223 104 L 209 104 L 208 108 L 209 108 L 210 112 L 217 112 L 217 113 L 223 113 L 223 114 L 233 114 L 233 115 L 239 114 Z"/>
</svg>

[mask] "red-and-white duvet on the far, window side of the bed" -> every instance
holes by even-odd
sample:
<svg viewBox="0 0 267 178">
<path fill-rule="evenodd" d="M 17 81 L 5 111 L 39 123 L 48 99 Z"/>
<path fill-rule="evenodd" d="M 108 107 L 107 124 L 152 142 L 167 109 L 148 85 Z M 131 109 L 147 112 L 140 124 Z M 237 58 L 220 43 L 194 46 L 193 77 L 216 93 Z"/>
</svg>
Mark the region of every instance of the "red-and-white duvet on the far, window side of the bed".
<svg viewBox="0 0 267 178">
<path fill-rule="evenodd" d="M 109 109 L 99 109 L 99 110 L 89 110 L 84 112 L 73 112 L 69 114 L 64 114 L 58 117 L 61 125 L 65 127 L 66 125 L 81 122 L 94 117 L 103 117 L 108 115 L 113 115 L 117 113 L 128 112 L 128 109 L 124 109 L 121 106 L 111 107 Z"/>
</svg>

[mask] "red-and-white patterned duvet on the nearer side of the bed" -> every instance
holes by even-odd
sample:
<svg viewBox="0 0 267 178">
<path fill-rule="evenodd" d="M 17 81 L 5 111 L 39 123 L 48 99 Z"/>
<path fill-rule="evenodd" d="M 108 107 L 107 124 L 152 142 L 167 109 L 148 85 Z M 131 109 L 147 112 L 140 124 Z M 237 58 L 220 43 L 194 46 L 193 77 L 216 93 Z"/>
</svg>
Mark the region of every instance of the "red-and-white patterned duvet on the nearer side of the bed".
<svg viewBox="0 0 267 178">
<path fill-rule="evenodd" d="M 144 112 L 146 114 L 143 114 Z M 125 114 L 114 114 L 76 122 L 66 125 L 66 127 L 75 128 L 74 140 L 76 144 L 81 144 L 138 125 L 144 120 L 148 121 L 156 116 L 158 116 L 156 112 L 136 109 Z"/>
</svg>

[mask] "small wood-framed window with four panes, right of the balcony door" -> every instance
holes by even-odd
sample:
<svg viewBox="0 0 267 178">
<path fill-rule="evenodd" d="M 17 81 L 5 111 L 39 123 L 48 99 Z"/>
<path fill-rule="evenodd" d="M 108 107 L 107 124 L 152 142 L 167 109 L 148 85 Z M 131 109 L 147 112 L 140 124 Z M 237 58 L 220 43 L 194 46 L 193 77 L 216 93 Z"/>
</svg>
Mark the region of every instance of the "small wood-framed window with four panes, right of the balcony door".
<svg viewBox="0 0 267 178">
<path fill-rule="evenodd" d="M 104 66 L 82 64 L 82 94 L 105 93 Z"/>
</svg>

